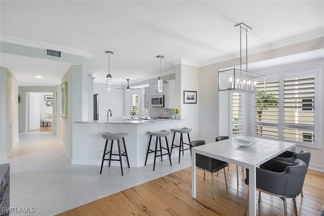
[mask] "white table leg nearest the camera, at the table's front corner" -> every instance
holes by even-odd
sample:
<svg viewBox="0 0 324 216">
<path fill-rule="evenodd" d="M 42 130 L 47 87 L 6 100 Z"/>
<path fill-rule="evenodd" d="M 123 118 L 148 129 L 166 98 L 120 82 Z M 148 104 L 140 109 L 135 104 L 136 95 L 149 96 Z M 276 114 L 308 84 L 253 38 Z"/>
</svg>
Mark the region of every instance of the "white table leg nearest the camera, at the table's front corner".
<svg viewBox="0 0 324 216">
<path fill-rule="evenodd" d="M 249 169 L 249 215 L 256 215 L 256 167 Z"/>
</svg>

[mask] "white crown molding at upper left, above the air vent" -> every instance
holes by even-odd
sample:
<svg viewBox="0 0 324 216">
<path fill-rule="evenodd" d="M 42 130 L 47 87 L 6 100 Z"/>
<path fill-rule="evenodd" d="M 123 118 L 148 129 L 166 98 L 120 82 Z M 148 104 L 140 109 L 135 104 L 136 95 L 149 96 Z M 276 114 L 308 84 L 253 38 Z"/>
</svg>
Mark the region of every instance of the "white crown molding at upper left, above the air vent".
<svg viewBox="0 0 324 216">
<path fill-rule="evenodd" d="M 73 49 L 73 48 L 59 46 L 59 45 L 54 45 L 54 44 L 49 44 L 49 43 L 42 42 L 42 41 L 34 41 L 34 40 L 24 39 L 24 38 L 20 38 L 20 37 L 9 36 L 9 35 L 5 35 L 5 34 L 0 35 L 0 40 L 3 42 L 8 42 L 10 44 L 17 44 L 17 45 L 22 45 L 22 46 L 26 46 L 26 47 L 56 50 L 56 51 L 60 51 L 63 53 L 69 53 L 69 54 L 73 54 L 73 55 L 77 55 L 77 56 L 83 56 L 87 59 L 90 59 L 93 57 L 93 55 L 91 53 L 88 53 L 87 51 Z"/>
</svg>

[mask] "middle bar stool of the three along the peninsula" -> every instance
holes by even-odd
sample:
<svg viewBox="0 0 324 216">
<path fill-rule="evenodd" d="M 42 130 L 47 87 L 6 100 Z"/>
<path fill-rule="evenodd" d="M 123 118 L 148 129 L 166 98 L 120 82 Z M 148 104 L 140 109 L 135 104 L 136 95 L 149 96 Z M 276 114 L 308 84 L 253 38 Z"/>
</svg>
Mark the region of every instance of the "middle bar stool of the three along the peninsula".
<svg viewBox="0 0 324 216">
<path fill-rule="evenodd" d="M 146 132 L 148 135 L 150 135 L 150 141 L 148 143 L 148 147 L 147 147 L 147 152 L 146 152 L 146 159 L 145 159 L 145 166 L 146 166 L 146 162 L 147 162 L 147 156 L 149 153 L 153 153 L 154 152 L 154 165 L 153 165 L 153 171 L 155 169 L 155 160 L 156 160 L 156 157 L 161 157 L 161 161 L 163 161 L 163 158 L 162 156 L 163 155 L 168 155 L 169 156 L 169 160 L 170 160 L 170 165 L 172 166 L 172 163 L 171 163 L 171 154 L 170 154 L 170 150 L 169 150 L 169 145 L 168 145 L 168 139 L 167 139 L 167 136 L 169 136 L 169 134 L 171 133 L 170 131 L 166 131 L 166 130 L 162 130 L 162 131 L 159 131 L 159 132 Z M 155 136 L 156 139 L 155 139 L 155 150 L 151 150 L 150 149 L 150 145 L 151 145 L 151 140 L 152 140 L 152 136 Z M 167 144 L 167 148 L 165 147 L 162 147 L 161 146 L 161 137 L 165 137 L 166 138 L 166 144 Z M 158 139 L 157 139 L 158 138 Z M 157 140 L 160 141 L 160 150 L 157 150 Z M 165 150 L 168 150 L 168 153 L 165 153 L 165 154 L 162 154 L 162 149 L 165 149 Z M 156 155 L 157 152 L 160 152 L 159 155 Z"/>
</svg>

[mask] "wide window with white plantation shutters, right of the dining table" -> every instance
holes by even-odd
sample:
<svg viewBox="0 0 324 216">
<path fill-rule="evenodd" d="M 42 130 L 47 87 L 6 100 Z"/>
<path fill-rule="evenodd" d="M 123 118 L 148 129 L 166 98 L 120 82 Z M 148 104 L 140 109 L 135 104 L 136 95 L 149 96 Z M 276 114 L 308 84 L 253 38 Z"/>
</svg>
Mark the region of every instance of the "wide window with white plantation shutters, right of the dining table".
<svg viewBox="0 0 324 216">
<path fill-rule="evenodd" d="M 315 84 L 321 79 L 318 71 L 267 78 L 265 93 L 255 94 L 256 136 L 321 148 L 321 86 Z M 257 85 L 257 90 L 262 87 Z"/>
</svg>

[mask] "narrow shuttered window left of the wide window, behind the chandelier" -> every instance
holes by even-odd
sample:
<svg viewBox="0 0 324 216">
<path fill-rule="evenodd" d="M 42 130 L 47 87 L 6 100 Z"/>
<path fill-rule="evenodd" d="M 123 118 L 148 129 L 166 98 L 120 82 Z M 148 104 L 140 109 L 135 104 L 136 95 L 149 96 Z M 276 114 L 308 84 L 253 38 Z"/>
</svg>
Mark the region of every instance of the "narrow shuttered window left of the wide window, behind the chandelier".
<svg viewBox="0 0 324 216">
<path fill-rule="evenodd" d="M 242 114 L 242 94 L 238 92 L 232 93 L 232 135 L 243 134 L 243 114 Z"/>
</svg>

